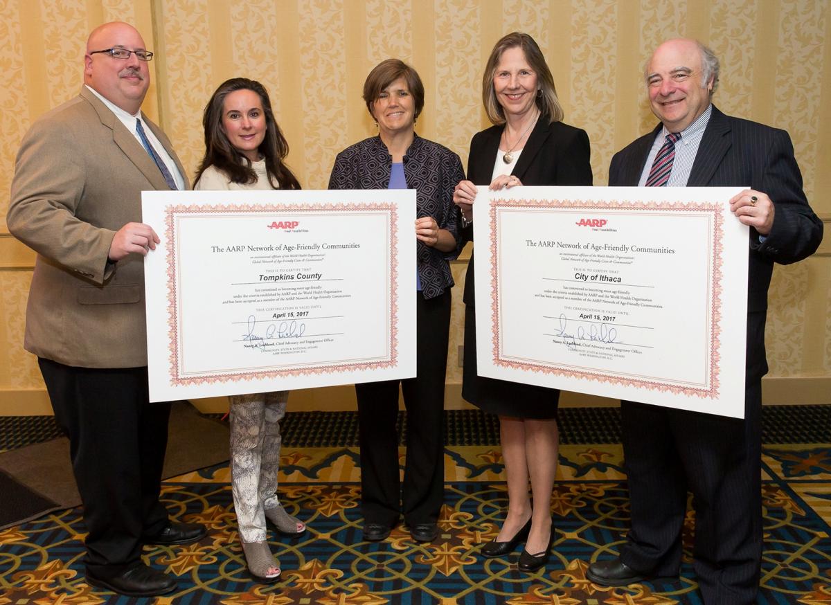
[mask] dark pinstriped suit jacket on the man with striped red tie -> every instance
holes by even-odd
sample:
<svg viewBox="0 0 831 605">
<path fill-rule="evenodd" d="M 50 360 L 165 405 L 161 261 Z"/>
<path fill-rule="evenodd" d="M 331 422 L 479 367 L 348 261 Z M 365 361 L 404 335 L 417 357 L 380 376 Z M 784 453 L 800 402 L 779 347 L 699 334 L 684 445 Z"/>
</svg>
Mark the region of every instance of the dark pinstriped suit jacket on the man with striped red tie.
<svg viewBox="0 0 831 605">
<path fill-rule="evenodd" d="M 659 130 L 661 124 L 614 155 L 610 185 L 638 184 Z M 823 224 L 802 190 L 794 146 L 784 130 L 725 116 L 713 106 L 687 185 L 750 187 L 768 194 L 774 203 L 774 224 L 765 241 L 750 229 L 746 376 L 749 381 L 761 378 L 768 371 L 765 312 L 774 262 L 802 260 L 823 239 Z"/>
</svg>

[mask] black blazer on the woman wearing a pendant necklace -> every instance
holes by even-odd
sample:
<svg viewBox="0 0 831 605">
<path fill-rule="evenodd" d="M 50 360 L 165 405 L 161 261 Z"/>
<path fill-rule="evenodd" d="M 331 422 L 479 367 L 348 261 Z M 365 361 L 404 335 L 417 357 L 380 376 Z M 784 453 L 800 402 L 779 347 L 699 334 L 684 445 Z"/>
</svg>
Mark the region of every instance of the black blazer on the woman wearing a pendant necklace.
<svg viewBox="0 0 831 605">
<path fill-rule="evenodd" d="M 504 126 L 491 126 L 477 132 L 470 140 L 467 178 L 473 184 L 490 184 L 494 162 L 499 151 L 499 139 Z M 590 185 L 591 149 L 585 130 L 563 124 L 549 123 L 539 116 L 528 141 L 519 155 L 511 175 L 527 185 Z M 473 226 L 462 231 L 463 241 L 473 239 Z M 475 306 L 473 258 L 465 275 L 465 304 Z"/>
</svg>

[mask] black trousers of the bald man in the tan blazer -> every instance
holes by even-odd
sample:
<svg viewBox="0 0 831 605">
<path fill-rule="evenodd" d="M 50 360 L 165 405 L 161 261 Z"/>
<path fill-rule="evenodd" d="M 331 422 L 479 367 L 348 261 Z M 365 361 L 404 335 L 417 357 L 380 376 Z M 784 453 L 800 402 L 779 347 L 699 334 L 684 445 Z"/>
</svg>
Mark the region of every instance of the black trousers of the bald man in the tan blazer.
<svg viewBox="0 0 831 605">
<path fill-rule="evenodd" d="M 141 535 L 158 533 L 168 520 L 159 493 L 170 403 L 149 403 L 146 367 L 38 363 L 69 435 L 89 532 L 84 563 L 100 577 L 120 573 L 140 560 Z"/>
</svg>

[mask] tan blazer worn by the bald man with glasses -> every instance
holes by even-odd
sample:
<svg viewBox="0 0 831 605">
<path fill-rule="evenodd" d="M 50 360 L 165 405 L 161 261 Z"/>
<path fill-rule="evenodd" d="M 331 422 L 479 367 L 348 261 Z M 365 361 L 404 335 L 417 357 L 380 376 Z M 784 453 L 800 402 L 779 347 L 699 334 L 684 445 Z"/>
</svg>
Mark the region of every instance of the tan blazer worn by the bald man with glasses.
<svg viewBox="0 0 831 605">
<path fill-rule="evenodd" d="M 170 140 L 146 123 L 187 183 Z M 107 254 L 118 229 L 141 222 L 141 191 L 153 189 L 168 189 L 160 170 L 86 86 L 32 125 L 7 216 L 9 231 L 37 252 L 27 351 L 68 366 L 147 365 L 143 258 L 114 264 Z"/>
</svg>

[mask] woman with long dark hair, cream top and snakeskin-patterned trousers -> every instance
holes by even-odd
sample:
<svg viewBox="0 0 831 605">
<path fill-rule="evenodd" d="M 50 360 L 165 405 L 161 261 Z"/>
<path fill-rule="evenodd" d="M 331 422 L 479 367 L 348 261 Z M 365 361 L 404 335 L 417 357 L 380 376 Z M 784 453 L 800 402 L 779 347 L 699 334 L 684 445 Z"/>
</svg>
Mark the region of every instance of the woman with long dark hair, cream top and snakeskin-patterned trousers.
<svg viewBox="0 0 831 605">
<path fill-rule="evenodd" d="M 288 143 L 274 120 L 268 91 L 258 81 L 232 78 L 211 96 L 202 120 L 205 155 L 194 189 L 300 189 L 283 164 Z M 266 535 L 266 519 L 282 534 L 296 536 L 306 525 L 280 504 L 277 473 L 280 425 L 288 391 L 231 396 L 231 485 L 239 536 L 251 577 L 280 578 Z"/>
</svg>

